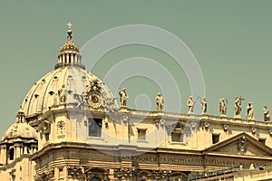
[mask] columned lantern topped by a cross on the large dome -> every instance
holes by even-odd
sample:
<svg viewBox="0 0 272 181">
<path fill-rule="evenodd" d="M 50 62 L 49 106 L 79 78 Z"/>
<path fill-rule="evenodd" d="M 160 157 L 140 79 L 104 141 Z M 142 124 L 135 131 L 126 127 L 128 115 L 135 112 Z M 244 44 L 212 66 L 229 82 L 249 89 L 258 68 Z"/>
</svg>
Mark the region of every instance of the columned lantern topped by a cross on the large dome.
<svg viewBox="0 0 272 181">
<path fill-rule="evenodd" d="M 85 69 L 85 67 L 81 64 L 82 55 L 80 55 L 79 53 L 79 46 L 73 43 L 73 31 L 71 29 L 72 25 L 73 24 L 71 24 L 70 22 L 67 24 L 67 40 L 66 43 L 61 46 L 61 50 L 58 55 L 58 63 L 54 67 L 55 69 L 63 66 L 78 66 Z"/>
</svg>

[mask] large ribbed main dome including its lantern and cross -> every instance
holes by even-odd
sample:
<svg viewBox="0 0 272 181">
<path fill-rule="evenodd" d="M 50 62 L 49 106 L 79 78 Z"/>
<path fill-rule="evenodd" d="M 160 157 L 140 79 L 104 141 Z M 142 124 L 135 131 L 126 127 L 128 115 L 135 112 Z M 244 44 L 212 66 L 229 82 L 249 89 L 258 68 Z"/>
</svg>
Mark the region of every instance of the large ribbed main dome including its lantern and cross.
<svg viewBox="0 0 272 181">
<path fill-rule="evenodd" d="M 73 43 L 73 32 L 69 28 L 67 33 L 66 43 L 61 46 L 54 70 L 36 81 L 24 98 L 22 110 L 26 117 L 35 117 L 60 104 L 81 105 L 86 102 L 86 96 L 91 90 L 104 98 L 100 100 L 114 100 L 103 82 L 85 71 L 79 46 Z M 97 101 L 91 102 L 93 107 L 102 107 L 102 103 L 107 103 L 99 102 L 99 99 L 93 100 Z M 113 104 L 116 106 L 115 102 Z"/>
</svg>

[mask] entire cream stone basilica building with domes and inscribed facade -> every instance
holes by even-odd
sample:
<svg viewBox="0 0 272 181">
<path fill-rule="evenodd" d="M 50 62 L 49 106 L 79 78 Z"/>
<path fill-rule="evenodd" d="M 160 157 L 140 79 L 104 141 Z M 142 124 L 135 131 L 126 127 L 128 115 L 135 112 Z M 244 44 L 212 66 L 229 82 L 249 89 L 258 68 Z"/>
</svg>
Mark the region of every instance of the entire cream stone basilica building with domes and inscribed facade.
<svg viewBox="0 0 272 181">
<path fill-rule="evenodd" d="M 1 180 L 223 180 L 205 177 L 221 170 L 231 170 L 224 180 L 272 177 L 269 120 L 212 116 L 205 99 L 201 115 L 192 98 L 188 114 L 165 112 L 161 95 L 157 111 L 131 110 L 125 89 L 119 107 L 84 70 L 71 24 L 67 33 L 55 69 L 29 90 L 2 138 Z"/>
</svg>

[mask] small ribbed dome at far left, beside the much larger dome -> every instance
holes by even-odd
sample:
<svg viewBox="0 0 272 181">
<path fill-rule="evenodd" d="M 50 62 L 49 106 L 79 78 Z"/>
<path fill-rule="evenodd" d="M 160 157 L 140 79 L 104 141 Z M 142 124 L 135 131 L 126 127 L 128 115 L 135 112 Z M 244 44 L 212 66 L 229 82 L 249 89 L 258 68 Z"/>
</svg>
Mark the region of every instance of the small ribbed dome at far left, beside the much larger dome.
<svg viewBox="0 0 272 181">
<path fill-rule="evenodd" d="M 38 140 L 35 129 L 25 122 L 16 122 L 5 130 L 2 140 L 11 138 L 34 138 Z"/>
</svg>

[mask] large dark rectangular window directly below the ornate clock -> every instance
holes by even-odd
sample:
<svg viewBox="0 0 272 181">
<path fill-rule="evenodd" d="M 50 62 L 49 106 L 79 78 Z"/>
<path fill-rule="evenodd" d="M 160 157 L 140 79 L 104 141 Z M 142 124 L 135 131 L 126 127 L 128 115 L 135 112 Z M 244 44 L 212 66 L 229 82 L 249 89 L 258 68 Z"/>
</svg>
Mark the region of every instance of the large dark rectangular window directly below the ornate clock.
<svg viewBox="0 0 272 181">
<path fill-rule="evenodd" d="M 102 135 L 102 119 L 88 119 L 89 137 L 101 137 Z"/>
</svg>

